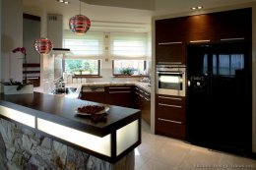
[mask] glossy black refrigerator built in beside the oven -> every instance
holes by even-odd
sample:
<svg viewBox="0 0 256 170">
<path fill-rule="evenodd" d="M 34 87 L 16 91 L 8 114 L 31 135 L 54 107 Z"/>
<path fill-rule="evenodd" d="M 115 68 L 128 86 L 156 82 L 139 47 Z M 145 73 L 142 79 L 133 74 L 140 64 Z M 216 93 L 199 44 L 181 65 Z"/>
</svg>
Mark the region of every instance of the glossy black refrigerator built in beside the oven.
<svg viewBox="0 0 256 170">
<path fill-rule="evenodd" d="M 251 152 L 251 54 L 243 42 L 187 46 L 187 141 Z"/>
</svg>

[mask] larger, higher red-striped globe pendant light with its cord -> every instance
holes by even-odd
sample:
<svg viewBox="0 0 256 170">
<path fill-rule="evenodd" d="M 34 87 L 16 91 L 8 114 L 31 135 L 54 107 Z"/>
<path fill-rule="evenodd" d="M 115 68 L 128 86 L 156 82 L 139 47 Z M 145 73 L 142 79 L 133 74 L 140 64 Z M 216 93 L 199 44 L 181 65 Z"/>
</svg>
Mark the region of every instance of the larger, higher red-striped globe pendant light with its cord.
<svg viewBox="0 0 256 170">
<path fill-rule="evenodd" d="M 80 14 L 70 18 L 69 28 L 75 33 L 84 34 L 91 27 L 91 21 L 88 17 L 81 15 L 81 0 L 79 2 L 80 2 Z"/>
</svg>

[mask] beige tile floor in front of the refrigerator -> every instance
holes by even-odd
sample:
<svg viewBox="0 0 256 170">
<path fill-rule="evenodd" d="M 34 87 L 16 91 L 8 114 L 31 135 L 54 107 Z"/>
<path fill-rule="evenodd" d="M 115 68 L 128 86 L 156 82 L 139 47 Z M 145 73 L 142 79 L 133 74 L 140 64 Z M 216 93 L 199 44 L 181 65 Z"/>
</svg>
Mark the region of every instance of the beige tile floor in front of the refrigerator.
<svg viewBox="0 0 256 170">
<path fill-rule="evenodd" d="M 150 127 L 142 123 L 142 143 L 135 149 L 135 170 L 222 169 L 256 170 L 256 160 L 153 135 Z"/>
</svg>

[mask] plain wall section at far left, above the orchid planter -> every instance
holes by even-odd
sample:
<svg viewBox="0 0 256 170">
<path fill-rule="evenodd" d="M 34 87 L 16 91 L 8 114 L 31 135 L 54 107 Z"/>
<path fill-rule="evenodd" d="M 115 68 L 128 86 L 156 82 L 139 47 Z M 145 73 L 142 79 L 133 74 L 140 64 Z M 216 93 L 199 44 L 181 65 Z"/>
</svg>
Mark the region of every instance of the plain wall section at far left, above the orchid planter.
<svg viewBox="0 0 256 170">
<path fill-rule="evenodd" d="M 2 79 L 23 80 L 23 54 L 12 53 L 16 47 L 23 47 L 23 1 L 2 0 Z M 11 68 L 11 69 L 10 69 Z"/>
</svg>

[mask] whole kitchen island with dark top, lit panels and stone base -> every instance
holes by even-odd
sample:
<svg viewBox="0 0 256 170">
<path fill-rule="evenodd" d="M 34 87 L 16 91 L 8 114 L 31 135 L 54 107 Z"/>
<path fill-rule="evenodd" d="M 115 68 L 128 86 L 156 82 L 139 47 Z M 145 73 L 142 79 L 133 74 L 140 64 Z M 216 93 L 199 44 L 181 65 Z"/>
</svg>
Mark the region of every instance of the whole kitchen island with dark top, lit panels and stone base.
<svg viewBox="0 0 256 170">
<path fill-rule="evenodd" d="M 83 105 L 103 104 L 39 92 L 1 94 L 4 162 L 21 169 L 134 169 L 141 111 L 110 105 L 106 123 L 94 123 L 77 115 Z"/>
</svg>

